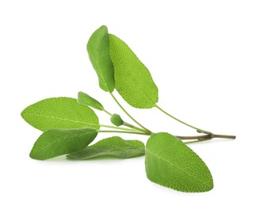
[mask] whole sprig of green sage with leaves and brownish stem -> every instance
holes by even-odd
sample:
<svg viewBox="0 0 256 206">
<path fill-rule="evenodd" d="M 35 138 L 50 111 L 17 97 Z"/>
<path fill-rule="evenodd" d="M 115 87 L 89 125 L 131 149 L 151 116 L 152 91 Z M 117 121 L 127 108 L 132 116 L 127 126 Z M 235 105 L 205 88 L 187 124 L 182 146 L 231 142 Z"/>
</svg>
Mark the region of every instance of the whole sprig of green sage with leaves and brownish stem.
<svg viewBox="0 0 256 206">
<path fill-rule="evenodd" d="M 26 122 L 43 132 L 32 147 L 30 157 L 45 160 L 67 155 L 67 158 L 86 160 L 101 156 L 134 158 L 145 155 L 149 180 L 182 192 L 211 190 L 213 181 L 208 167 L 186 144 L 214 138 L 235 139 L 235 136 L 216 135 L 194 127 L 157 105 L 159 90 L 147 67 L 123 40 L 109 34 L 105 25 L 92 34 L 87 52 L 97 73 L 99 86 L 113 97 L 133 123 L 124 121 L 119 114 L 110 113 L 99 101 L 83 92 L 78 93 L 77 100 L 70 97 L 44 99 L 29 105 L 21 113 Z M 196 129 L 201 135 L 178 136 L 151 132 L 120 105 L 113 94 L 115 89 L 132 107 L 155 107 L 181 124 Z M 107 113 L 113 125 L 100 124 L 93 109 Z M 125 140 L 119 136 L 101 139 L 90 145 L 102 132 L 148 135 L 149 139 L 146 147 L 139 140 Z"/>
</svg>

